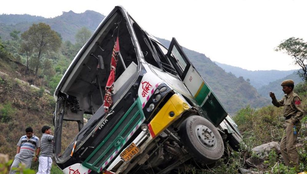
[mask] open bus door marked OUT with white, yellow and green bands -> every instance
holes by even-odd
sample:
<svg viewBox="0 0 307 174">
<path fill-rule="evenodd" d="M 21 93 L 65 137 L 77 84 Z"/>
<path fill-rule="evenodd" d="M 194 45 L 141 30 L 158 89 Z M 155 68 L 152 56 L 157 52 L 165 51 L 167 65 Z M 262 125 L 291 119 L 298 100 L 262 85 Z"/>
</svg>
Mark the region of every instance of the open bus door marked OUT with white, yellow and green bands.
<svg viewBox="0 0 307 174">
<path fill-rule="evenodd" d="M 227 112 L 217 97 L 187 58 L 175 38 L 171 40 L 166 56 L 175 67 L 180 79 L 194 96 L 195 100 L 206 112 L 215 126 L 218 126 L 227 116 Z"/>
</svg>

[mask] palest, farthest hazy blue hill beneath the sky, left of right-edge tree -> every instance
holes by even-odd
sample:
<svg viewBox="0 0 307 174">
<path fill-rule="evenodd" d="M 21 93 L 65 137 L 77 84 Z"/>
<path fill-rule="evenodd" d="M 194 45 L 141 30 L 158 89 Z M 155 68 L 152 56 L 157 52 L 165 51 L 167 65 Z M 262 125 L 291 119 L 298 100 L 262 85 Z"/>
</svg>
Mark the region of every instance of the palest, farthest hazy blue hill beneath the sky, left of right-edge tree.
<svg viewBox="0 0 307 174">
<path fill-rule="evenodd" d="M 267 70 L 267 71 L 250 71 L 243 68 L 221 64 L 215 62 L 219 67 L 223 68 L 226 72 L 233 73 L 236 77 L 242 76 L 245 80 L 250 79 L 250 84 L 255 87 L 257 90 L 261 89 L 262 86 L 268 85 L 270 82 L 273 82 L 277 79 L 284 78 L 287 75 L 292 74 L 297 70 L 289 70 L 289 71 L 278 71 L 278 70 Z"/>
</svg>

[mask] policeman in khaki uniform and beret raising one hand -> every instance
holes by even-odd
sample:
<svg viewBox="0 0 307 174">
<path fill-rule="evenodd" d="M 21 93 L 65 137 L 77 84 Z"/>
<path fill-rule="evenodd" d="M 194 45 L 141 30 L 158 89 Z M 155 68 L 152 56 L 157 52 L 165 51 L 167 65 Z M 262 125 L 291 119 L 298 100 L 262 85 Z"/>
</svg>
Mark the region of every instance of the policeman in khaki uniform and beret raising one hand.
<svg viewBox="0 0 307 174">
<path fill-rule="evenodd" d="M 298 166 L 298 153 L 295 145 L 297 133 L 301 128 L 301 119 L 303 118 L 303 106 L 300 97 L 293 92 L 293 80 L 284 80 L 281 83 L 282 91 L 285 96 L 277 101 L 273 92 L 270 92 L 272 103 L 276 107 L 284 106 L 283 116 L 285 117 L 284 133 L 280 142 L 281 155 L 287 166 Z"/>
</svg>

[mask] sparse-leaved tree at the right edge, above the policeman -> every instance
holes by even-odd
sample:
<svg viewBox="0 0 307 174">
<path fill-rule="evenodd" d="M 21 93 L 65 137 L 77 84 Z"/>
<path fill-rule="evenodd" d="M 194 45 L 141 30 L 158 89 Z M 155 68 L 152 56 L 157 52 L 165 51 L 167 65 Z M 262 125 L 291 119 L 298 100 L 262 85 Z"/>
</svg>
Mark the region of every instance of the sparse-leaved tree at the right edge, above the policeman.
<svg viewBox="0 0 307 174">
<path fill-rule="evenodd" d="M 302 68 L 302 72 L 299 71 L 300 77 L 307 82 L 307 43 L 301 38 L 290 37 L 282 41 L 275 51 L 282 51 L 294 59 L 294 64 L 299 65 Z"/>
</svg>

